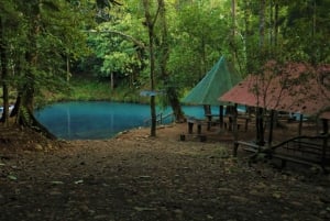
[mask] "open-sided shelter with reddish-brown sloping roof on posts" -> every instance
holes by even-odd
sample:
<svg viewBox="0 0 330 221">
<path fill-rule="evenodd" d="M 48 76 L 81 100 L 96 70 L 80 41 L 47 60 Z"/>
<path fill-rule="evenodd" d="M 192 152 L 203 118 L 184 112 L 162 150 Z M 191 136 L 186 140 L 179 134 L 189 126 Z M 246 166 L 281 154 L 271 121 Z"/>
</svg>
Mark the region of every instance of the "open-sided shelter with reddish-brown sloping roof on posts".
<svg viewBox="0 0 330 221">
<path fill-rule="evenodd" d="M 219 100 L 267 109 L 271 110 L 271 113 L 274 113 L 274 110 L 300 113 L 297 140 L 293 137 L 286 142 L 300 142 L 301 137 L 305 137 L 300 134 L 302 114 L 314 115 L 321 120 L 323 133 L 322 135 L 317 134 L 315 137 L 322 139 L 320 158 L 323 166 L 328 157 L 326 152 L 328 150 L 328 122 L 330 120 L 330 65 L 315 68 L 307 64 L 289 63 L 278 66 L 275 62 L 266 64 L 262 75 L 249 75 L 244 80 L 222 95 Z M 268 147 L 271 146 L 272 150 L 275 150 L 282 144 L 272 146 L 272 122 L 271 114 Z M 246 142 L 235 141 L 237 147 L 240 143 L 246 144 Z M 237 147 L 234 148 L 234 154 L 237 153 Z"/>
</svg>

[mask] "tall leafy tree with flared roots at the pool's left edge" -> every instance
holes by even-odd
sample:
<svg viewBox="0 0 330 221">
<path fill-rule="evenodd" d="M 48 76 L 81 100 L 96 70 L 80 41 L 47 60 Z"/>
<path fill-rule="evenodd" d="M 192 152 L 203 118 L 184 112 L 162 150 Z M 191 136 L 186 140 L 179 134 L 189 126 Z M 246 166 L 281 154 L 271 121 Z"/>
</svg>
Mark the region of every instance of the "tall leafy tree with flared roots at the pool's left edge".
<svg viewBox="0 0 330 221">
<path fill-rule="evenodd" d="M 13 73 L 11 84 L 15 86 L 18 98 L 12 113 L 18 115 L 16 122 L 47 133 L 33 115 L 35 95 L 40 96 L 44 90 L 55 91 L 64 88 L 67 77 L 66 57 L 68 53 L 73 57 L 82 53 L 84 37 L 80 27 L 87 25 L 87 22 L 82 23 L 87 20 L 82 20 L 82 11 L 73 10 L 73 5 L 66 0 L 12 0 L 10 3 L 12 13 L 16 16 L 12 16 L 12 20 L 7 18 L 2 22 L 11 21 L 15 26 L 20 26 L 13 29 L 14 31 L 4 26 L 1 29 L 1 43 L 6 43 L 1 44 L 6 46 L 1 51 L 1 69 Z M 1 4 L 1 19 L 9 11 L 2 10 L 4 5 L 9 3 Z M 84 14 L 85 18 L 86 15 L 87 13 Z M 20 22 L 14 22 L 18 20 Z M 3 30 L 7 33 L 3 33 Z M 7 90 L 6 88 L 7 85 L 3 89 Z"/>
</svg>

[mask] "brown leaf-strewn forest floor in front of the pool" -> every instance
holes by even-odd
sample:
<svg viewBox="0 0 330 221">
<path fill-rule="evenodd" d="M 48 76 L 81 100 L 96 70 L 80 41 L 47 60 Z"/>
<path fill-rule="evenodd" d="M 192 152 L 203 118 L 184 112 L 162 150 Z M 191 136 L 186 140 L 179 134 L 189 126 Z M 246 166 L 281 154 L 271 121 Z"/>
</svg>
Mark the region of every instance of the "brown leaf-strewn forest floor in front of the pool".
<svg viewBox="0 0 330 221">
<path fill-rule="evenodd" d="M 241 139 L 253 140 L 251 131 Z M 186 132 L 182 123 L 158 128 L 156 137 L 136 129 L 110 140 L 51 142 L 1 128 L 0 220 L 330 220 L 329 175 L 249 165 L 244 151 L 231 156 L 231 133 L 179 141 Z"/>
</svg>

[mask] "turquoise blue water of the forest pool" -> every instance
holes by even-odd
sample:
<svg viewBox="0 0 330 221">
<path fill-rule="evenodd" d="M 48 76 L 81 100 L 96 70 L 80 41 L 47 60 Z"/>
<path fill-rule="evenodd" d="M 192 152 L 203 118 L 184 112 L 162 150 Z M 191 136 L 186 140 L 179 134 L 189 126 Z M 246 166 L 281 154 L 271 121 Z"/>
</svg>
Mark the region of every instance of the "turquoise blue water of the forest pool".
<svg viewBox="0 0 330 221">
<path fill-rule="evenodd" d="M 201 106 L 183 107 L 183 110 L 186 115 L 204 118 Z M 170 108 L 157 108 L 157 114 L 170 112 Z M 212 113 L 219 113 L 219 107 L 212 107 Z M 147 125 L 150 106 L 106 101 L 61 102 L 36 110 L 35 117 L 58 139 L 109 139 L 121 131 Z"/>
</svg>

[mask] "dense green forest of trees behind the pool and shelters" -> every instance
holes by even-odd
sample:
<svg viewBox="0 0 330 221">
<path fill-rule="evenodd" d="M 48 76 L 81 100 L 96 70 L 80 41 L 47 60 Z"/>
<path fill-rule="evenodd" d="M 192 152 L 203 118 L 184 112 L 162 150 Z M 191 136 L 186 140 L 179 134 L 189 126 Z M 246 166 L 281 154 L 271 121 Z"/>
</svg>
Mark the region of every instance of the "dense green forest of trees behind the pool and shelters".
<svg viewBox="0 0 330 221">
<path fill-rule="evenodd" d="M 155 104 L 183 118 L 180 98 L 222 55 L 242 77 L 267 60 L 329 64 L 329 8 L 330 0 L 0 0 L 1 120 L 8 124 L 14 100 L 15 122 L 42 128 L 35 98 L 92 76 L 109 90 L 164 91 L 150 97 L 153 133 Z"/>
</svg>

